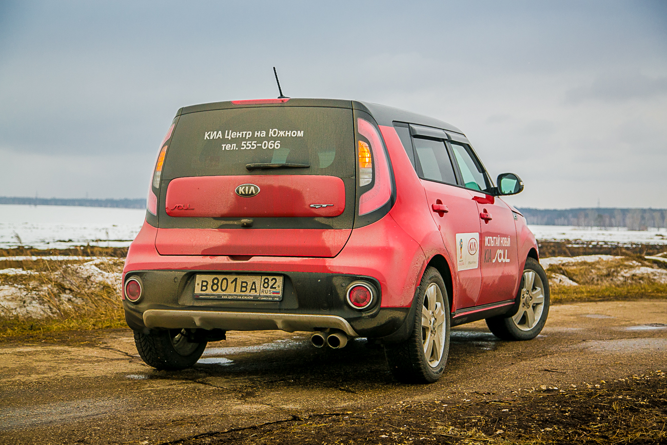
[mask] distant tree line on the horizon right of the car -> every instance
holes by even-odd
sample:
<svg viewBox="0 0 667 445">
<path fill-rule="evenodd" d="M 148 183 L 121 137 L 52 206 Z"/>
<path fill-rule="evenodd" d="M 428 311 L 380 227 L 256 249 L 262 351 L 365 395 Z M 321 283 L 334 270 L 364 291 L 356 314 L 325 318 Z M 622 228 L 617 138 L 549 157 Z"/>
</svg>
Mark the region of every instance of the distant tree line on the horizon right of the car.
<svg viewBox="0 0 667 445">
<path fill-rule="evenodd" d="M 667 228 L 667 209 L 520 209 L 528 224 L 543 226 L 580 226 L 628 230 Z"/>
</svg>

